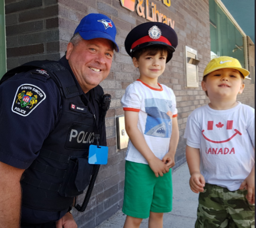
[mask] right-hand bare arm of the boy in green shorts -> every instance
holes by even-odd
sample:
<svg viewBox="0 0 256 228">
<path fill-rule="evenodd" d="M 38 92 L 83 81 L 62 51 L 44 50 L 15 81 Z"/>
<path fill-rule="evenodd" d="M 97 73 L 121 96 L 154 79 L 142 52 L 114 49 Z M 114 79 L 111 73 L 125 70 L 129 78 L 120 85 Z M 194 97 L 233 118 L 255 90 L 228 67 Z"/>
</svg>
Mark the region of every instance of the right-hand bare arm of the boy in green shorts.
<svg viewBox="0 0 256 228">
<path fill-rule="evenodd" d="M 170 136 L 170 145 L 168 153 L 163 157 L 162 161 L 166 163 L 168 168 L 172 168 L 175 165 L 175 153 L 179 143 L 179 125 L 177 117 L 173 118 L 172 136 Z"/>
</svg>

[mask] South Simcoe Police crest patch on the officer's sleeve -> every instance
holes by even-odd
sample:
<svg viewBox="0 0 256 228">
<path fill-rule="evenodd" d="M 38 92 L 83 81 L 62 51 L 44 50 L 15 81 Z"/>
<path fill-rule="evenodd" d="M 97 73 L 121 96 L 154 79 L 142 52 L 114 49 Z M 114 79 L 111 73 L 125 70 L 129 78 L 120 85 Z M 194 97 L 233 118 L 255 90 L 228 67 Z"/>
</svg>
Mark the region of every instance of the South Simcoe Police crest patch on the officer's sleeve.
<svg viewBox="0 0 256 228">
<path fill-rule="evenodd" d="M 28 116 L 45 99 L 46 94 L 37 86 L 22 84 L 14 97 L 12 111 L 21 116 Z"/>
</svg>

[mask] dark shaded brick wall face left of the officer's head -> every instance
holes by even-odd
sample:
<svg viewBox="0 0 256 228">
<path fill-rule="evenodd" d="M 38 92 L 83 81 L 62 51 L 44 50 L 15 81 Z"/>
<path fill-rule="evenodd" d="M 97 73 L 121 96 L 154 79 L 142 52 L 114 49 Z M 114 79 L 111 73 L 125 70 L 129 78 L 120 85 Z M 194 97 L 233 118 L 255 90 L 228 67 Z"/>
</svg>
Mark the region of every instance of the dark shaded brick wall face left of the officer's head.
<svg viewBox="0 0 256 228">
<path fill-rule="evenodd" d="M 5 0 L 7 68 L 32 60 L 58 60 L 57 0 Z"/>
</svg>

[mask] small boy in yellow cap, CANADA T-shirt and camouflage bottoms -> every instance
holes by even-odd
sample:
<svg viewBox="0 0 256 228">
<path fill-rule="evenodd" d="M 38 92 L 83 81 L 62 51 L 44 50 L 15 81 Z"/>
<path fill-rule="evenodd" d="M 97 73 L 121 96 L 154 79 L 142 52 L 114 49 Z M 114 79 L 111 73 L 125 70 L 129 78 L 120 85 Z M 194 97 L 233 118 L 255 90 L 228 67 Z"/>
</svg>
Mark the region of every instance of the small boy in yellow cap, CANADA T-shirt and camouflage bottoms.
<svg viewBox="0 0 256 228">
<path fill-rule="evenodd" d="M 237 59 L 212 59 L 201 82 L 210 103 L 188 117 L 189 184 L 200 192 L 197 228 L 254 227 L 254 109 L 236 101 L 247 75 Z"/>
</svg>

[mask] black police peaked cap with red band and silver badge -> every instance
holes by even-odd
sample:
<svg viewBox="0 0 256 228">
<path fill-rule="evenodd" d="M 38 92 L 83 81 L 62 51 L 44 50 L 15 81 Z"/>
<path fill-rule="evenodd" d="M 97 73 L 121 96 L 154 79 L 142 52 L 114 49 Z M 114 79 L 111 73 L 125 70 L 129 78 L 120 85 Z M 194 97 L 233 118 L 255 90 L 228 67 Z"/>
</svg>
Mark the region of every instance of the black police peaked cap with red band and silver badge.
<svg viewBox="0 0 256 228">
<path fill-rule="evenodd" d="M 172 27 L 164 23 L 146 22 L 132 29 L 124 41 L 125 50 L 132 58 L 135 51 L 150 45 L 166 47 L 169 52 L 167 63 L 178 45 L 178 36 Z"/>
</svg>

